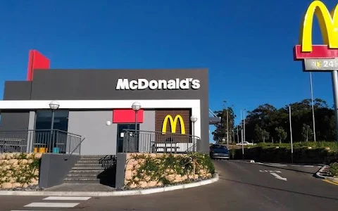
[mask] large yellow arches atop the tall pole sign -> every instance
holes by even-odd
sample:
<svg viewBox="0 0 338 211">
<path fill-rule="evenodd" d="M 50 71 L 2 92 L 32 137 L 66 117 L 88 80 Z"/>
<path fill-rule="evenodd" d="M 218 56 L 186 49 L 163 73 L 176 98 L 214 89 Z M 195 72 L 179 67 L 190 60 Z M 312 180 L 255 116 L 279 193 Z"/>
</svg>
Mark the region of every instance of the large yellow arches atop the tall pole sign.
<svg viewBox="0 0 338 211">
<path fill-rule="evenodd" d="M 303 17 L 299 41 L 301 42 L 301 51 L 312 51 L 312 25 L 313 16 L 316 15 L 322 32 L 323 44 L 330 49 L 338 49 L 338 4 L 330 13 L 322 1 L 313 1 Z"/>
</svg>

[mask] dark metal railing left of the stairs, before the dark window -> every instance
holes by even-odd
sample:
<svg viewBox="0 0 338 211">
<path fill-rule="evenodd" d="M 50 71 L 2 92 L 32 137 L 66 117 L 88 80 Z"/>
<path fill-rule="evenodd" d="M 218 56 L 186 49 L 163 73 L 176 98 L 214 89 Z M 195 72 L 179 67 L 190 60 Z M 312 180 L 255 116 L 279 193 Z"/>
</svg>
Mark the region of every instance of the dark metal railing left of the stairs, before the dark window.
<svg viewBox="0 0 338 211">
<path fill-rule="evenodd" d="M 0 130 L 0 153 L 80 154 L 81 136 L 59 129 Z"/>
</svg>

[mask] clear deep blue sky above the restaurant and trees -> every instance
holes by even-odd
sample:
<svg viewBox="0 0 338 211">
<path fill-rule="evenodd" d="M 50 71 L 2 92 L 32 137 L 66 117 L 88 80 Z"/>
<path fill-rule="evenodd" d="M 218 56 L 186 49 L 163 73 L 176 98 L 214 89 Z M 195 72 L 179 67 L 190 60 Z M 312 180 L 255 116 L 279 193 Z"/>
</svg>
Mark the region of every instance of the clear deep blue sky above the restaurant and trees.
<svg viewBox="0 0 338 211">
<path fill-rule="evenodd" d="M 310 2 L 0 1 L 0 87 L 25 80 L 37 49 L 51 68 L 208 68 L 212 110 L 224 100 L 237 115 L 281 107 L 311 97 L 309 74 L 292 57 Z M 313 89 L 332 106 L 330 73 L 313 73 Z"/>
</svg>

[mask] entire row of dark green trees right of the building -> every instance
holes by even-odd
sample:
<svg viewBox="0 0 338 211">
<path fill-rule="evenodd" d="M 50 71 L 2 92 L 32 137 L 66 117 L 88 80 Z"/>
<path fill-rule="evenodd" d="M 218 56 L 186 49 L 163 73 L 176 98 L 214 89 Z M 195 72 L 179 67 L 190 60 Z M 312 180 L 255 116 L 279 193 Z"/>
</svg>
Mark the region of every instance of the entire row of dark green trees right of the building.
<svg viewBox="0 0 338 211">
<path fill-rule="evenodd" d="M 275 108 L 275 106 L 265 103 L 248 111 L 245 118 L 245 141 L 289 143 L 289 106 L 292 112 L 293 141 L 314 141 L 311 99 L 291 103 L 282 108 Z M 334 141 L 336 136 L 334 109 L 330 108 L 327 102 L 320 98 L 313 100 L 313 108 L 316 141 Z M 234 124 L 234 118 L 237 115 L 234 114 L 232 107 L 228 106 L 214 113 L 221 117 L 221 120 L 215 125 L 213 140 L 226 141 L 228 134 L 230 143 L 242 141 L 241 132 L 244 132 L 244 120 L 242 120 L 242 125 Z"/>
</svg>

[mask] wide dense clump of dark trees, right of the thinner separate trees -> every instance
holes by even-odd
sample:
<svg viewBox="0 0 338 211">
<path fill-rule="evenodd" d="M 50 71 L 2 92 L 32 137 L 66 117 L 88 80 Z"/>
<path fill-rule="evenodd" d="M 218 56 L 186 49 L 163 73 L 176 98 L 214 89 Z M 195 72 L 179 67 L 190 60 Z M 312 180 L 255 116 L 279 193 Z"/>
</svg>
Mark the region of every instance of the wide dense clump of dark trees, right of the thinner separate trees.
<svg viewBox="0 0 338 211">
<path fill-rule="evenodd" d="M 292 108 L 292 138 L 295 141 L 303 141 L 305 133 L 303 132 L 303 124 L 307 127 L 308 140 L 313 140 L 313 117 L 311 99 L 290 103 L 282 108 L 265 103 L 257 106 L 248 112 L 246 116 L 246 137 L 248 139 L 263 140 L 262 131 L 269 133 L 268 139 L 279 140 L 279 134 L 275 128 L 282 127 L 290 139 L 289 127 L 289 106 Z M 334 141 L 335 140 L 335 121 L 334 109 L 327 106 L 327 103 L 315 98 L 313 101 L 315 114 L 315 135 L 318 141 Z M 258 131 L 259 127 L 262 131 Z"/>
</svg>

